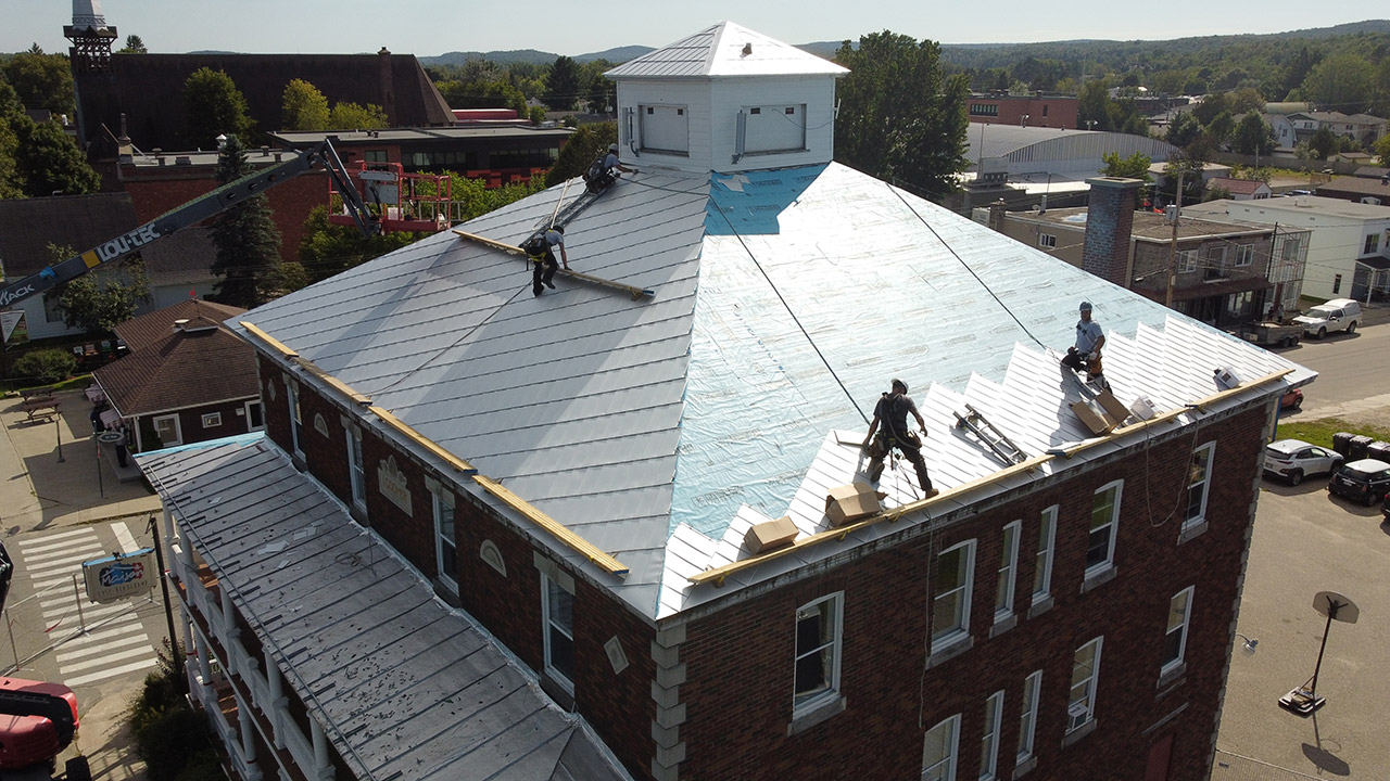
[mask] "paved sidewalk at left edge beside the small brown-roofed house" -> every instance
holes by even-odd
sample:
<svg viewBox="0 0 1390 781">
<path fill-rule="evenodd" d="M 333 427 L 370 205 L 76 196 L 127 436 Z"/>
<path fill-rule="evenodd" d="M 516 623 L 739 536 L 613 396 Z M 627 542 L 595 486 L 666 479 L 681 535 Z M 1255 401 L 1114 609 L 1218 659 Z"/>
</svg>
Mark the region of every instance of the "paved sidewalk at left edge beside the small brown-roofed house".
<svg viewBox="0 0 1390 781">
<path fill-rule="evenodd" d="M 143 482 L 120 482 L 97 457 L 92 403 L 82 392 L 64 392 L 58 399 L 60 414 L 49 422 L 26 421 L 17 396 L 0 400 L 3 535 L 158 513 L 158 496 Z"/>
</svg>

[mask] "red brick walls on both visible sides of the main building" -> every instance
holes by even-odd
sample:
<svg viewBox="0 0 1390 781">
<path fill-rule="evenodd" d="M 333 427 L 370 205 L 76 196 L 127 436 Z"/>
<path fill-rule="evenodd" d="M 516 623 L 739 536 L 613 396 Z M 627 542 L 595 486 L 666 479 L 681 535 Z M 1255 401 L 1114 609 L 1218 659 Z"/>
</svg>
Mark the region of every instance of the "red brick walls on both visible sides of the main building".
<svg viewBox="0 0 1390 781">
<path fill-rule="evenodd" d="M 285 374 L 272 361 L 261 361 L 263 379 L 279 385 L 277 397 L 267 397 L 267 431 L 288 450 Z M 350 504 L 341 416 L 356 413 L 309 385 L 300 389 L 307 468 Z M 314 431 L 316 416 L 322 416 L 329 436 Z M 934 531 L 926 524 L 903 525 L 872 550 L 860 549 L 766 586 L 731 592 L 660 624 L 560 563 L 534 541 L 541 532 L 502 518 L 461 493 L 456 495 L 455 513 L 460 588 L 449 596 L 541 674 L 538 567 L 557 566 L 573 577 L 574 707 L 638 778 L 916 780 L 922 774 L 923 735 L 954 714 L 960 714 L 956 777 L 974 778 L 986 699 L 998 691 L 1004 691 L 1004 706 L 997 777 L 1011 778 L 1023 682 L 1041 670 L 1036 767 L 1023 777 L 1145 778 L 1152 748 L 1172 739 L 1168 774 L 1156 778 L 1198 781 L 1207 777 L 1212 756 L 1266 422 L 1265 410 L 1245 410 L 1204 421 L 1195 432 L 1154 439 L 1147 452 L 1141 447 L 1109 456 L 1059 478 L 1038 475 L 1033 485 L 997 504 L 973 507 L 977 514 L 958 521 L 938 518 Z M 1218 443 L 1209 470 L 1207 525 L 1180 542 L 1190 456 L 1207 442 Z M 435 578 L 427 479 L 441 475 L 370 428 L 363 453 L 370 525 Z M 377 488 L 377 466 L 386 456 L 395 457 L 406 477 L 413 499 L 409 516 Z M 1093 577 L 1083 589 L 1094 492 L 1119 479 L 1123 493 L 1113 571 Z M 448 485 L 448 475 L 442 482 Z M 1058 523 L 1052 602 L 1030 617 L 1040 517 L 1054 504 Z M 1022 521 L 1022 532 L 1015 623 L 997 625 L 1002 528 L 1016 520 Z M 969 539 L 976 541 L 970 648 L 949 659 L 938 656 L 927 666 L 935 557 Z M 496 548 L 506 574 L 480 556 L 485 543 Z M 1188 586 L 1194 586 L 1194 596 L 1184 668 L 1161 684 L 1169 603 Z M 844 712 L 790 730 L 796 610 L 835 592 L 844 595 L 838 688 Z M 657 630 L 664 638 L 660 648 Z M 1104 636 L 1104 645 L 1094 724 L 1068 737 L 1073 655 L 1097 636 Z M 617 638 L 627 661 L 620 671 L 614 671 L 605 649 L 612 638 Z M 664 663 L 659 660 L 659 655 L 669 653 L 678 656 L 684 674 L 671 695 L 678 705 L 659 707 L 659 687 L 653 684 L 659 666 L 670 670 L 670 656 Z M 667 693 L 673 692 L 669 684 L 663 684 Z M 659 750 L 667 760 L 660 768 L 655 762 Z"/>
</svg>

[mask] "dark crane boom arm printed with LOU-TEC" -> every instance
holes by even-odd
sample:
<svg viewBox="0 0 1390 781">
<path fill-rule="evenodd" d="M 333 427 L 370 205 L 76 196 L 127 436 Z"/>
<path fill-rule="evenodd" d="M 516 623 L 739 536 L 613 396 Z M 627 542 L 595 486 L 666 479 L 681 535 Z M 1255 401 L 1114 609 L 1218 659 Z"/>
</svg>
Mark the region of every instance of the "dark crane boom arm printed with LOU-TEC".
<svg viewBox="0 0 1390 781">
<path fill-rule="evenodd" d="M 357 190 L 350 185 L 348 171 L 329 139 L 324 139 L 322 143 L 309 149 L 289 150 L 288 154 L 293 157 L 268 168 L 253 171 L 240 179 L 228 182 L 213 192 L 175 207 L 133 231 L 95 246 L 82 254 L 49 265 L 43 271 L 25 277 L 18 282 L 6 285 L 0 289 L 0 309 L 76 279 L 93 268 L 124 260 L 150 242 L 221 214 L 246 199 L 292 179 L 316 165 L 322 165 L 328 171 L 328 175 L 341 190 L 343 204 L 348 207 L 349 214 L 352 214 L 353 222 L 357 224 L 363 235 L 377 232 L 378 227 L 374 215 L 367 211 L 367 204 L 363 203 Z"/>
</svg>

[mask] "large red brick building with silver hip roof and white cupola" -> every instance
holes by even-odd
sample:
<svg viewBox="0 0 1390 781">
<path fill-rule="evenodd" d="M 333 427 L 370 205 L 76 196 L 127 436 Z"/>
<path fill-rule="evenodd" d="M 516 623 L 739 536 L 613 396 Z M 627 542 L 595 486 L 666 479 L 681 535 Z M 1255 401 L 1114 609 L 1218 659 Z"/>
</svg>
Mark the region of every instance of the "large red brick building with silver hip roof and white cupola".
<svg viewBox="0 0 1390 781">
<path fill-rule="evenodd" d="M 641 174 L 566 243 L 635 296 L 439 235 L 234 321 L 265 438 L 139 460 L 238 777 L 1207 777 L 1312 372 L 831 163 L 842 72 L 727 22 L 609 72 Z M 1059 367 L 1080 299 L 1143 414 Z M 941 493 L 835 523 L 892 377 Z"/>
</svg>

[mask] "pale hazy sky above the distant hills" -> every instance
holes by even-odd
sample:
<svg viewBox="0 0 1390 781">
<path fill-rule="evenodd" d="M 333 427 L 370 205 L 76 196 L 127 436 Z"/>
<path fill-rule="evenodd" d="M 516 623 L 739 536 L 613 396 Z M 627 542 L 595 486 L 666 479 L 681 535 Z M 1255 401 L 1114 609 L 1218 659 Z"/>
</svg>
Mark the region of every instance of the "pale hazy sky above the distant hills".
<svg viewBox="0 0 1390 781">
<path fill-rule="evenodd" d="M 614 46 L 663 46 L 728 19 L 788 43 L 844 40 L 892 32 L 941 43 L 1019 43 L 1077 38 L 1166 40 L 1266 33 L 1390 18 L 1384 0 L 1134 4 L 1115 0 L 962 4 L 922 0 L 97 0 L 124 42 L 139 35 L 150 51 L 207 49 L 250 53 L 398 54 L 539 49 L 585 54 Z M 499 8 L 502 10 L 499 13 Z M 509 13 L 512 8 L 524 13 Z M 0 51 L 38 42 L 65 51 L 70 0 L 0 0 Z"/>
</svg>

